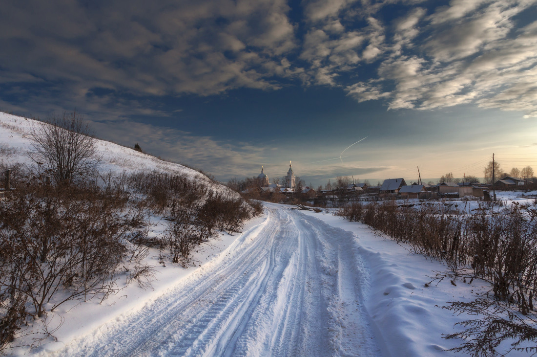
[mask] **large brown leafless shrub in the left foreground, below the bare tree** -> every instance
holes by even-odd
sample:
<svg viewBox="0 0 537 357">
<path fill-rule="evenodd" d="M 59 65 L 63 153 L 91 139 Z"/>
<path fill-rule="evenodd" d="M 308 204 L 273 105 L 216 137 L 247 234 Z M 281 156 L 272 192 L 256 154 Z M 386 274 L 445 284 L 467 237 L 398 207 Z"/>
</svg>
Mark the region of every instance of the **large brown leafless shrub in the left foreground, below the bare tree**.
<svg viewBox="0 0 537 357">
<path fill-rule="evenodd" d="M 0 244 L 12 247 L 0 287 L 24 294 L 38 317 L 46 304 L 53 311 L 110 292 L 127 251 L 121 201 L 81 185 L 35 184 L 0 201 Z"/>
</svg>

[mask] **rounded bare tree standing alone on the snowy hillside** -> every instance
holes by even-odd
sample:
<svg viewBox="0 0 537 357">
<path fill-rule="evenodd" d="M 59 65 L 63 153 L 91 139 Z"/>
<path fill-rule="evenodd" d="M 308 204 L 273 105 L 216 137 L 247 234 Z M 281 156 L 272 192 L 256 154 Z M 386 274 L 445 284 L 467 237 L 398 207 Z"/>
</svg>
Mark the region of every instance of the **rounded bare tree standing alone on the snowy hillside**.
<svg viewBox="0 0 537 357">
<path fill-rule="evenodd" d="M 76 110 L 52 116 L 32 126 L 30 159 L 44 165 L 57 183 L 70 183 L 75 177 L 87 176 L 100 162 L 92 134 Z"/>
</svg>

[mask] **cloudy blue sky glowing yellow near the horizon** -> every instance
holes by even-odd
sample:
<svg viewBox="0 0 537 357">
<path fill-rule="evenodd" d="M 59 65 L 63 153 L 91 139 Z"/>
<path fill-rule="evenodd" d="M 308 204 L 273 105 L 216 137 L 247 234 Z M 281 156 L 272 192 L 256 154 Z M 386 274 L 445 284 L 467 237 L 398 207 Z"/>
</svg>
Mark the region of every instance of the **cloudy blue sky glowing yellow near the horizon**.
<svg viewBox="0 0 537 357">
<path fill-rule="evenodd" d="M 0 109 L 76 108 L 222 181 L 537 168 L 536 19 L 537 0 L 8 0 Z"/>
</svg>

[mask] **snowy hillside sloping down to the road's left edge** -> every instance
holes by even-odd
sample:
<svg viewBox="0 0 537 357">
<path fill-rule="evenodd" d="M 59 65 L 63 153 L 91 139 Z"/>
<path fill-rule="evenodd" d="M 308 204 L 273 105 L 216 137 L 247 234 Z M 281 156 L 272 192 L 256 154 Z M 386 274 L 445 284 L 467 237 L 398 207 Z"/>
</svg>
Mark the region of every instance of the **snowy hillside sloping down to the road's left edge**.
<svg viewBox="0 0 537 357">
<path fill-rule="evenodd" d="M 33 125 L 48 124 L 0 113 L 0 174 L 2 175 L 0 188 L 4 186 L 4 171 L 13 169 L 15 175 L 12 177 L 12 187 L 18 185 L 19 190 L 13 191 L 11 196 L 17 195 L 23 201 L 26 199 L 23 193 L 25 184 L 32 182 L 32 160 L 29 157 L 32 142 L 29 135 Z M 96 146 L 97 154 L 101 158 L 101 163 L 97 168 L 98 173 L 95 175 L 98 177 L 96 182 L 100 182 L 106 190 L 110 188 L 110 181 L 113 181 L 113 184 L 119 187 L 120 194 L 123 195 L 121 199 L 128 202 L 127 205 L 118 205 L 116 211 L 113 212 L 114 222 L 119 222 L 125 229 L 123 235 L 117 236 L 119 237 L 117 243 L 125 249 L 126 253 L 122 253 L 120 258 L 122 260 L 115 262 L 114 270 L 111 272 L 112 294 L 108 292 L 90 294 L 88 298 L 91 296 L 96 298 L 89 301 L 86 301 L 88 299 L 84 295 L 58 306 L 57 303 L 68 297 L 69 290 L 72 290 L 70 282 L 66 285 L 65 281 L 59 280 L 60 282 L 53 286 L 54 296 L 49 299 L 48 303 L 43 304 L 45 309 L 43 317 L 28 318 L 28 328 L 18 332 L 16 339 L 9 347 L 41 345 L 41 349 L 50 351 L 59 347 L 59 342 L 53 342 L 54 338 L 46 332 L 47 329 L 50 331 L 58 327 L 59 329 L 54 334 L 61 336 L 64 340 L 69 340 L 84 331 L 95 329 L 121 313 L 142 308 L 144 304 L 161 296 L 185 276 L 191 275 L 200 266 L 219 256 L 237 239 L 238 236 L 233 233 L 241 229 L 245 220 L 255 215 L 252 207 L 237 192 L 212 181 L 196 170 L 104 140 L 96 140 Z M 33 184 L 38 194 L 32 197 L 38 197 L 39 201 L 40 183 L 36 184 L 35 181 L 33 180 Z M 106 187 L 107 184 L 108 187 Z M 43 190 L 46 191 L 47 187 L 43 187 Z M 61 205 L 64 199 L 61 191 L 66 189 L 53 185 L 48 190 L 52 192 L 51 197 L 57 200 L 56 203 L 59 202 Z M 115 192 L 112 192 L 111 196 L 115 197 L 114 194 Z M 34 192 L 30 192 L 30 195 L 34 195 Z M 110 191 L 99 191 L 98 197 L 106 199 L 108 196 L 110 196 Z M 79 198 L 75 200 L 80 201 Z M 19 199 L 3 199 L 0 201 L 0 210 L 9 212 L 10 209 L 16 207 L 13 202 L 19 201 Z M 133 211 L 136 212 L 135 215 Z M 233 224 L 224 223 L 221 217 L 233 211 L 238 212 L 235 216 L 231 213 Z M 22 213 L 21 216 L 26 218 L 32 215 L 31 212 Z M 87 217 L 84 215 L 86 213 L 74 217 L 74 220 Z M 67 217 L 68 220 L 69 218 L 73 217 Z M 26 222 L 32 220 L 33 218 L 30 218 Z M 21 224 L 23 229 L 27 226 L 26 223 Z M 13 239 L 18 239 L 13 238 L 16 234 L 10 233 L 10 229 L 11 226 L 0 222 L 2 247 L 8 247 Z M 97 229 L 100 228 L 97 227 Z M 193 238 L 194 241 L 188 241 L 186 251 L 174 252 L 171 244 L 184 238 L 186 233 L 188 233 L 187 238 Z M 35 233 L 28 233 L 27 238 L 34 239 L 33 234 Z M 142 239 L 133 240 L 132 237 L 142 237 Z M 60 238 L 52 238 L 53 245 L 57 245 L 57 239 Z M 137 258 L 133 259 L 133 256 Z M 37 265 L 47 266 L 48 262 L 43 262 L 42 258 L 39 260 L 37 260 Z M 0 268 L 2 266 L 5 264 L 0 264 Z M 133 278 L 134 274 L 142 269 L 146 269 L 147 274 L 142 275 L 141 279 Z M 49 268 L 45 267 L 45 271 L 48 273 Z M 3 318 L 6 311 L 3 303 L 7 301 L 9 304 L 9 299 L 2 300 L 3 291 L 9 290 L 9 287 L 6 288 L 7 285 L 2 282 L 10 281 L 9 274 L 12 274 L 9 270 L 0 269 L 0 318 Z M 55 287 L 59 289 L 56 290 Z M 28 313 L 33 314 L 34 305 L 30 301 L 31 299 L 28 300 L 26 306 Z M 82 301 L 86 302 L 81 303 Z M 0 353 L 2 348 L 0 343 Z M 24 354 L 27 352 L 27 347 L 19 347 L 11 351 L 14 354 Z"/>
</svg>

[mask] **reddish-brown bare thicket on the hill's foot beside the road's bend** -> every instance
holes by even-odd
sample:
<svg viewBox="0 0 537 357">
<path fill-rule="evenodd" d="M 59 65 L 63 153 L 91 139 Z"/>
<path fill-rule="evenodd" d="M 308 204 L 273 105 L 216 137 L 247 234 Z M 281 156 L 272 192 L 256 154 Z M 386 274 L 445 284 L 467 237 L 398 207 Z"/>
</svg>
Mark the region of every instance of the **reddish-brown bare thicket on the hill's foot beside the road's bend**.
<svg viewBox="0 0 537 357">
<path fill-rule="evenodd" d="M 262 211 L 260 204 L 254 209 L 242 197 L 216 193 L 187 175 L 137 173 L 128 177 L 127 186 L 144 192 L 140 195 L 144 204 L 169 222 L 162 237 L 140 236 L 136 242 L 161 248 L 162 257 L 169 255 L 183 266 L 192 249 L 218 230 L 238 232 L 246 219 Z"/>
</svg>

